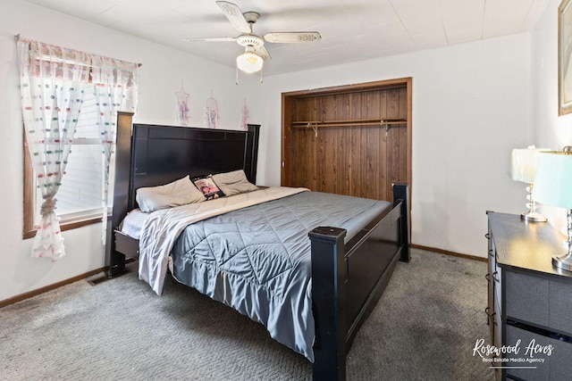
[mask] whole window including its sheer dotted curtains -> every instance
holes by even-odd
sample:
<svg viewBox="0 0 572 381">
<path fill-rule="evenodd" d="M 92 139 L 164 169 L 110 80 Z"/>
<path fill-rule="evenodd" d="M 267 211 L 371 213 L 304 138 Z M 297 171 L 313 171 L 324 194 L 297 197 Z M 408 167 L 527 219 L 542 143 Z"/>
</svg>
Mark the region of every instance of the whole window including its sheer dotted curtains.
<svg viewBox="0 0 572 381">
<path fill-rule="evenodd" d="M 102 199 L 113 193 L 108 169 L 113 167 L 114 115 L 136 109 L 139 65 L 16 40 L 24 139 L 29 138 L 24 237 L 35 236 L 32 257 L 57 260 L 65 255 L 61 230 L 100 221 L 109 210 Z"/>
</svg>

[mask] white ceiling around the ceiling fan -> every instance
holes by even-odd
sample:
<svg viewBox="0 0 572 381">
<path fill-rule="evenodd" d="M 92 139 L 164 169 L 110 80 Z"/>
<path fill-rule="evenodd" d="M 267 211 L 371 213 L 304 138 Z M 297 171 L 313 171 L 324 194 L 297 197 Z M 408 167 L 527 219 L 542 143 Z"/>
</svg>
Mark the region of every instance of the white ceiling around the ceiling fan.
<svg viewBox="0 0 572 381">
<path fill-rule="evenodd" d="M 234 66 L 236 37 L 214 0 L 26 0 L 32 4 Z M 260 19 L 254 32 L 318 31 L 314 44 L 270 44 L 265 75 L 526 32 L 548 0 L 231 0 Z"/>
</svg>

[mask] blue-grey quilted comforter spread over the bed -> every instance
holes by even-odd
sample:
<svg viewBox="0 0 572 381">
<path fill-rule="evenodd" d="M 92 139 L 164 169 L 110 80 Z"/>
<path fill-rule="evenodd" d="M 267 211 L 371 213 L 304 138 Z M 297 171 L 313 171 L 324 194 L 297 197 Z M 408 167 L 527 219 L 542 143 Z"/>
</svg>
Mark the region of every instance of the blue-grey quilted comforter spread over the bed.
<svg viewBox="0 0 572 381">
<path fill-rule="evenodd" d="M 314 361 L 308 232 L 354 236 L 391 203 L 302 192 L 189 225 L 172 248 L 172 275 L 265 325 L 278 342 Z"/>
</svg>

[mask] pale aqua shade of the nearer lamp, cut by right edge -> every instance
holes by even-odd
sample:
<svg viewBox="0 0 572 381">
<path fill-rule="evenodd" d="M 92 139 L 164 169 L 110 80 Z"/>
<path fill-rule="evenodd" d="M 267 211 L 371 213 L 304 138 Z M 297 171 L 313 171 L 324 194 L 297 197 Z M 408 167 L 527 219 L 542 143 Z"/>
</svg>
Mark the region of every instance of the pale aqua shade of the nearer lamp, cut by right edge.
<svg viewBox="0 0 572 381">
<path fill-rule="evenodd" d="M 572 209 L 572 154 L 538 153 L 533 200 L 537 203 Z"/>
</svg>

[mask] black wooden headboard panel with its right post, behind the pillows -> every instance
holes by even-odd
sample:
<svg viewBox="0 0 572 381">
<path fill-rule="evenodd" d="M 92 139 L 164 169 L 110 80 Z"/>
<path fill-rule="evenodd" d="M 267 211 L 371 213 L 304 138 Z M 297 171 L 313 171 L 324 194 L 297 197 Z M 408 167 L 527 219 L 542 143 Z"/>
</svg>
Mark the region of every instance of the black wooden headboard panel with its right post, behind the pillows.
<svg viewBox="0 0 572 381">
<path fill-rule="evenodd" d="M 190 175 L 244 170 L 248 181 L 257 181 L 257 132 L 133 124 L 131 137 L 130 194 L 142 186 L 160 186 Z"/>
</svg>

